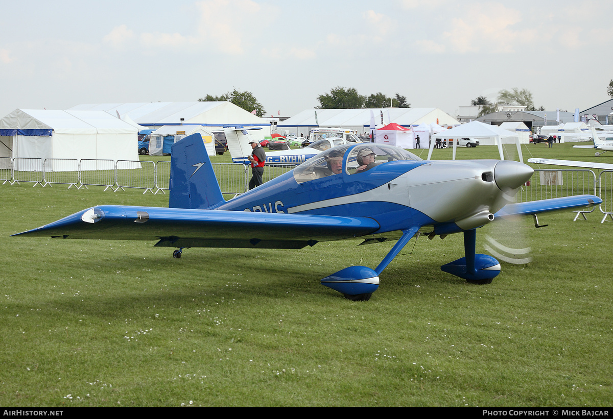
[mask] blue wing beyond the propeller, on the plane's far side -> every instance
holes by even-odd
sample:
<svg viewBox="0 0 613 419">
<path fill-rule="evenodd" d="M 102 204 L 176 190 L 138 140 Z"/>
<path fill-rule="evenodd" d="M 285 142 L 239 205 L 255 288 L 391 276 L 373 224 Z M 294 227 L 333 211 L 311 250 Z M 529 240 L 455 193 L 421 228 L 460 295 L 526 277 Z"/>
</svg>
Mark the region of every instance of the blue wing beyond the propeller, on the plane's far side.
<svg viewBox="0 0 613 419">
<path fill-rule="evenodd" d="M 573 197 L 551 198 L 539 201 L 520 202 L 505 205 L 504 208 L 494 214 L 494 219 L 506 216 L 524 216 L 555 211 L 589 210 L 599 205 L 603 200 L 596 195 L 576 195 Z"/>
</svg>

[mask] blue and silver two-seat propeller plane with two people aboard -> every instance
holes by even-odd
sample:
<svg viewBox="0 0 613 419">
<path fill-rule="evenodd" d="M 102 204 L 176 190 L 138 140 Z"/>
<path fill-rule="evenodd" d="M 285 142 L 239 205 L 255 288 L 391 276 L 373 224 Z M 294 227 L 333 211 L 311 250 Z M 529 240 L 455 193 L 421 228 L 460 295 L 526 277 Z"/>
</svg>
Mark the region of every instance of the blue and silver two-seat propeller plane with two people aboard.
<svg viewBox="0 0 613 419">
<path fill-rule="evenodd" d="M 337 173 L 338 172 L 338 173 Z M 464 256 L 441 270 L 489 284 L 500 263 L 476 254 L 476 228 L 498 217 L 577 210 L 594 195 L 507 205 L 532 175 L 511 160 L 425 161 L 395 146 L 341 145 L 225 201 L 199 134 L 173 145 L 170 208 L 101 205 L 17 236 L 155 240 L 155 246 L 301 249 L 319 241 L 397 240 L 376 266 L 349 266 L 321 280 L 368 300 L 379 275 L 413 236 L 463 233 Z"/>
</svg>

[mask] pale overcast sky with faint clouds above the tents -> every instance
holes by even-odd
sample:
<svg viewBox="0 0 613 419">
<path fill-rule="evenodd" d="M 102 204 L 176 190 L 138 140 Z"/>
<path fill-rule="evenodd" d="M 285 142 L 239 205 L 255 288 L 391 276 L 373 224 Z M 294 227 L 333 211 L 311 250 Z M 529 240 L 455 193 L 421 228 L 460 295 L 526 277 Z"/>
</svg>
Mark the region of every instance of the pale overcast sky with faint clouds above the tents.
<svg viewBox="0 0 613 419">
<path fill-rule="evenodd" d="M 336 86 L 456 115 L 501 89 L 546 110 L 609 99 L 613 2 L 0 0 L 0 118 L 237 88 L 292 116 Z"/>
</svg>

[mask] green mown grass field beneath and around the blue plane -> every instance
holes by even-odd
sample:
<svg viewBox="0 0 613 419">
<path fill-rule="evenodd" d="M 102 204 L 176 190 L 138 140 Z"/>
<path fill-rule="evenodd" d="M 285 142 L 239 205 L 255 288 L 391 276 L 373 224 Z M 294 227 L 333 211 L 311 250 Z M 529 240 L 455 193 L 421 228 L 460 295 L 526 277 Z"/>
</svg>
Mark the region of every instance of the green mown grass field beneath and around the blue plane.
<svg viewBox="0 0 613 419">
<path fill-rule="evenodd" d="M 595 159 L 524 148 L 524 159 Z M 374 267 L 392 244 L 173 259 L 153 242 L 9 237 L 103 203 L 167 206 L 168 195 L 0 186 L 1 406 L 613 404 L 612 225 L 600 212 L 479 229 L 478 252 L 487 235 L 532 249 L 490 285 L 440 270 L 463 256 L 461 235 L 412 240 L 362 303 L 319 280 Z"/>
</svg>

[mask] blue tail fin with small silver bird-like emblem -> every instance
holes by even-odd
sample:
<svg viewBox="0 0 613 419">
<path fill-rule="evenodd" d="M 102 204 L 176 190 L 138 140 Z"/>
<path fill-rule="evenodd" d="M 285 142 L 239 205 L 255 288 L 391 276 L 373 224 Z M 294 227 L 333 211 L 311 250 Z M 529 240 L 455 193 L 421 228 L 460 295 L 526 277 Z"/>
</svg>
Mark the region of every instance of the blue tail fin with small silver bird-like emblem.
<svg viewBox="0 0 613 419">
<path fill-rule="evenodd" d="M 188 135 L 174 143 L 171 156 L 170 208 L 204 210 L 226 202 L 221 195 L 202 135 Z"/>
</svg>

